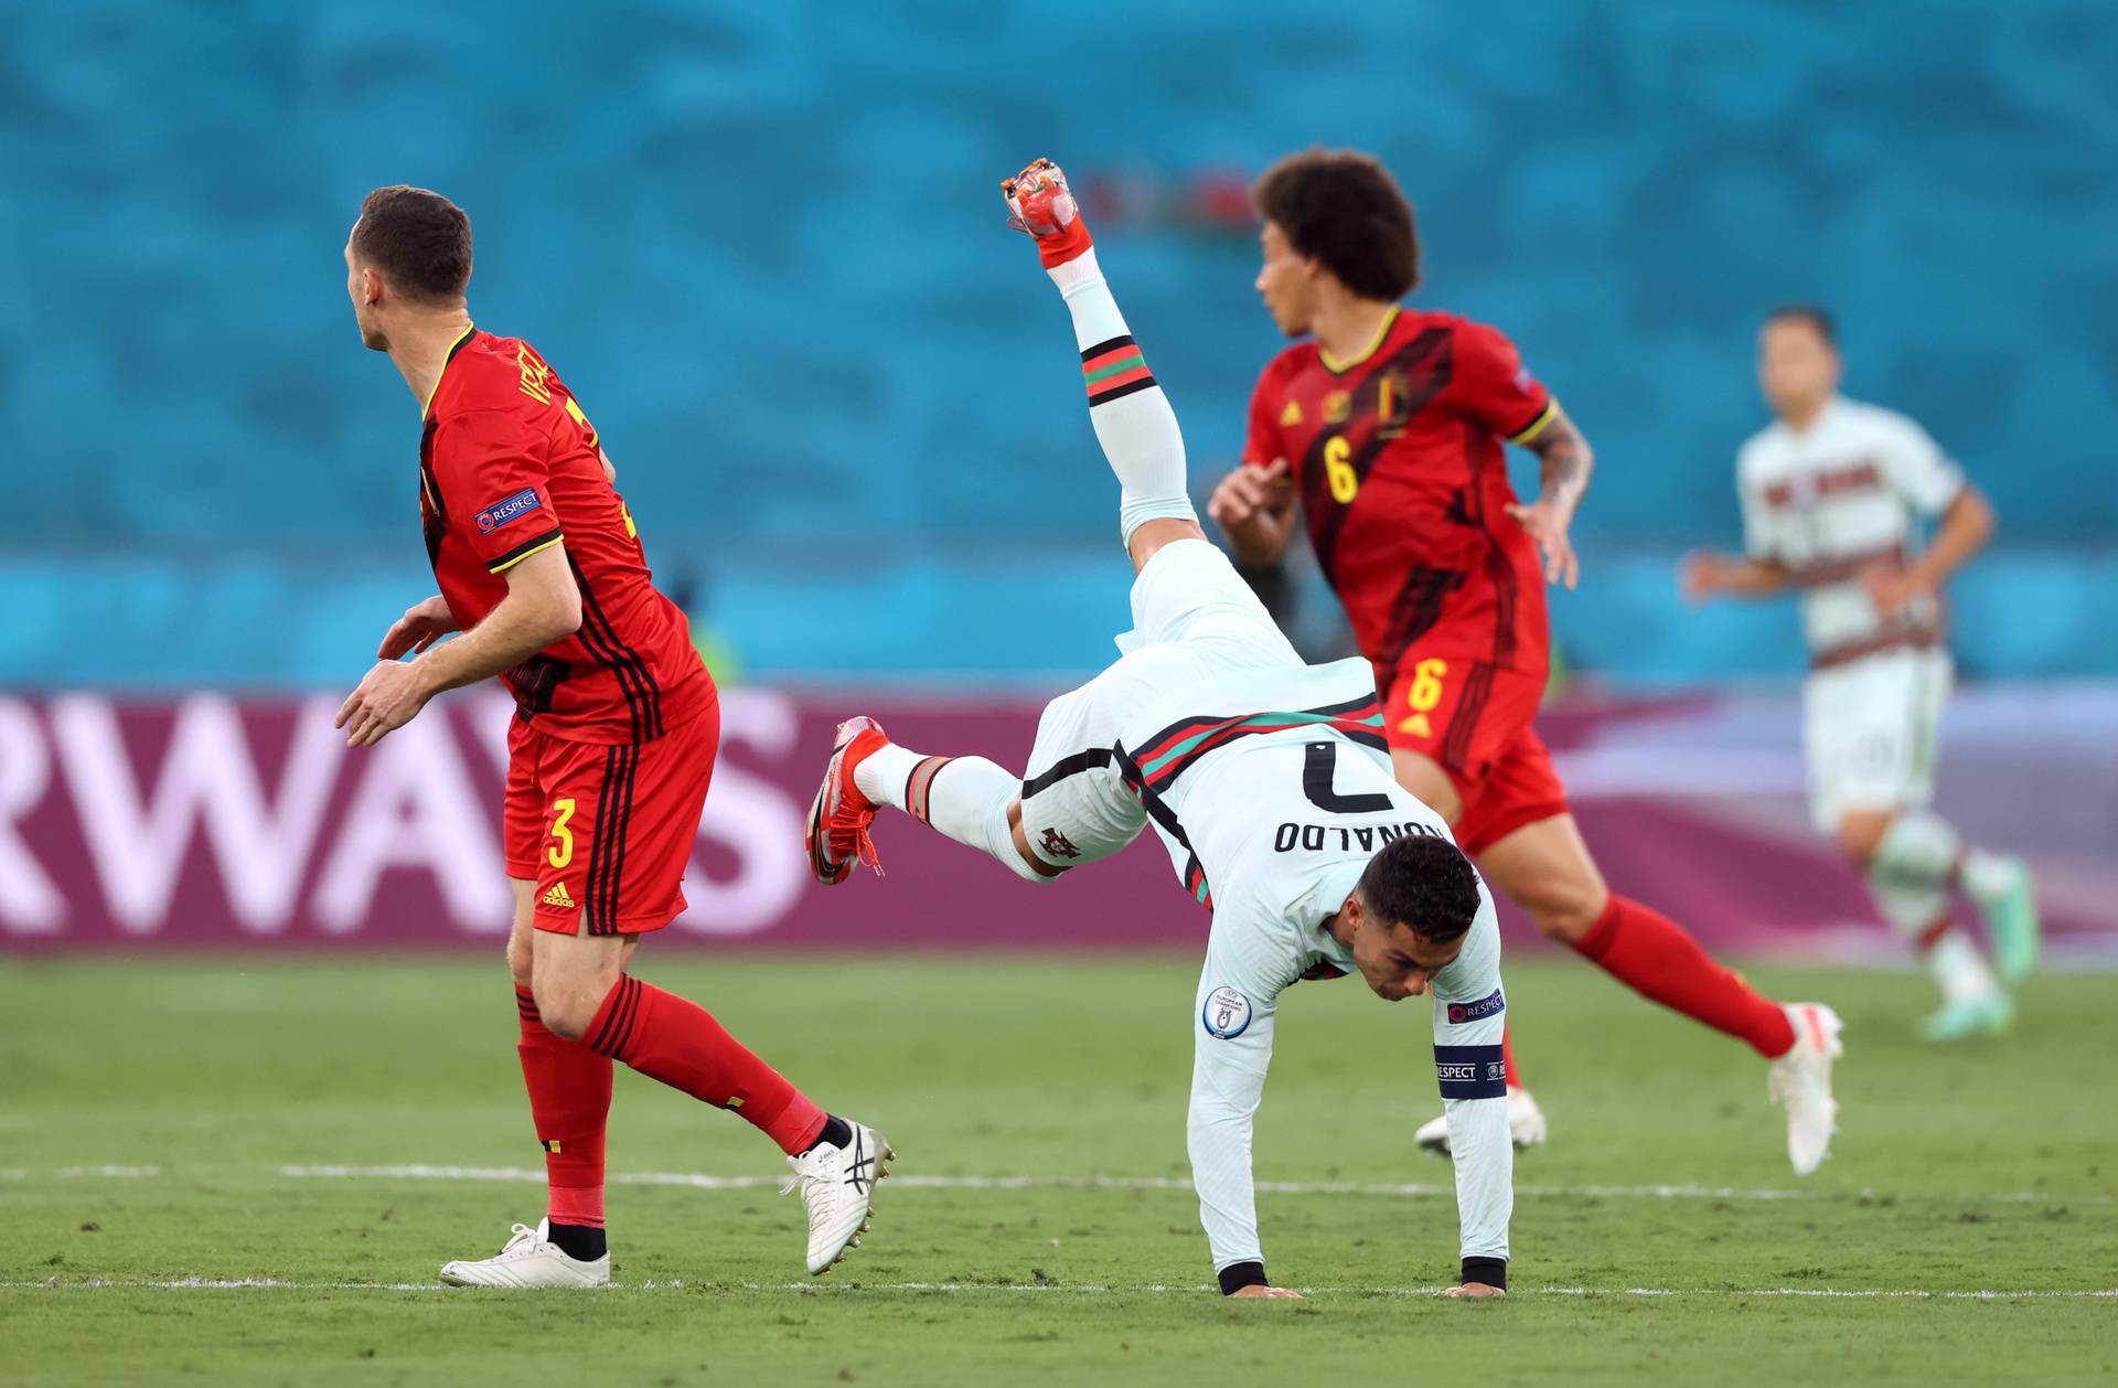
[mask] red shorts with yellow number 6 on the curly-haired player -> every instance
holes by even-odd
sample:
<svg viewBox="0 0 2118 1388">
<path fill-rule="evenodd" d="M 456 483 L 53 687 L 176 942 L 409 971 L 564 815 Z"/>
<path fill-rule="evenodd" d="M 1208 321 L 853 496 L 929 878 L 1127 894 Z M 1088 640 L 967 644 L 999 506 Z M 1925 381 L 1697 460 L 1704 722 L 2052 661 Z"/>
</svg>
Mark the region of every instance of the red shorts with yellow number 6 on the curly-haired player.
<svg viewBox="0 0 2118 1388">
<path fill-rule="evenodd" d="M 1567 788 L 1552 771 L 1529 720 L 1544 680 L 1487 661 L 1421 657 L 1398 665 L 1383 695 L 1383 735 L 1392 750 L 1432 759 L 1464 797 L 1457 843 L 1478 856 L 1523 824 L 1567 812 Z"/>
</svg>

